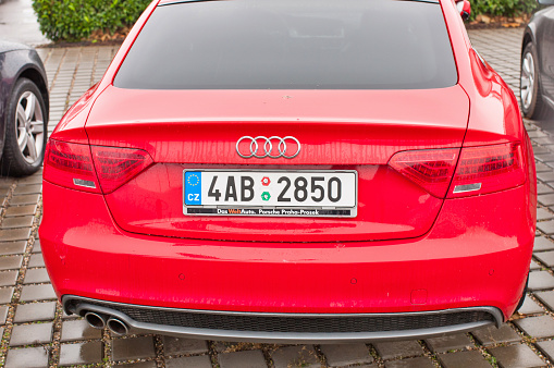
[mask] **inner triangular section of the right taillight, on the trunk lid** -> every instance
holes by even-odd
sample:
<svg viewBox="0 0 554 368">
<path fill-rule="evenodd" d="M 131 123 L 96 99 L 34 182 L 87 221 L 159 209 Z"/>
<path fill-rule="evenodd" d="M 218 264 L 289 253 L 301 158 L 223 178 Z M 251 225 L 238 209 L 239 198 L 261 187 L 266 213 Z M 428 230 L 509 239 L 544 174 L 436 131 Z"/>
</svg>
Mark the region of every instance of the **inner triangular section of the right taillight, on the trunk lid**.
<svg viewBox="0 0 554 368">
<path fill-rule="evenodd" d="M 394 155 L 389 165 L 433 196 L 444 198 L 458 154 L 458 148 L 404 151 Z"/>
</svg>

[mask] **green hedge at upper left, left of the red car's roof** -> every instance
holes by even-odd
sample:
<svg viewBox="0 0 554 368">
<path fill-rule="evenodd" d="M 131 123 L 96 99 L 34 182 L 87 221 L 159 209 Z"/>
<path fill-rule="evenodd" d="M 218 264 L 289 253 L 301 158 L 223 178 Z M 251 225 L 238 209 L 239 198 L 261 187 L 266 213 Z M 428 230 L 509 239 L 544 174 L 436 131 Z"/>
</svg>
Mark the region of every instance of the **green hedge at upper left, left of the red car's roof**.
<svg viewBox="0 0 554 368">
<path fill-rule="evenodd" d="M 78 41 L 94 30 L 114 33 L 132 26 L 151 0 L 33 0 L 42 34 Z"/>
</svg>

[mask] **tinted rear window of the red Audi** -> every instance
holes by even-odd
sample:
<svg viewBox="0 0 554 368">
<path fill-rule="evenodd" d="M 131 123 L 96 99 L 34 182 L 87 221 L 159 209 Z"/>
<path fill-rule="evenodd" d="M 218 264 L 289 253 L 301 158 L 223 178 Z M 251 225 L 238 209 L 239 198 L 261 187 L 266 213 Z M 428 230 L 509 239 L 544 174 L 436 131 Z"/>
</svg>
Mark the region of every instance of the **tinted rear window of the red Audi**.
<svg viewBox="0 0 554 368">
<path fill-rule="evenodd" d="M 423 89 L 457 83 L 441 5 L 230 0 L 159 5 L 114 85 L 139 89 Z"/>
</svg>

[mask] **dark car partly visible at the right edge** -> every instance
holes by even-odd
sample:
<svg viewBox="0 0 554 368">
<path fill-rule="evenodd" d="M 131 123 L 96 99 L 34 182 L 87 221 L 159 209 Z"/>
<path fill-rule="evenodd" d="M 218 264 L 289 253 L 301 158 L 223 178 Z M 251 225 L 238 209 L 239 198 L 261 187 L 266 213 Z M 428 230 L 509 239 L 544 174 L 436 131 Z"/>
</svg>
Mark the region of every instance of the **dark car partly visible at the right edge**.
<svg viewBox="0 0 554 368">
<path fill-rule="evenodd" d="M 554 5 L 554 0 L 538 0 Z M 554 7 L 538 11 L 524 34 L 521 48 L 521 110 L 526 118 L 554 115 Z"/>
</svg>

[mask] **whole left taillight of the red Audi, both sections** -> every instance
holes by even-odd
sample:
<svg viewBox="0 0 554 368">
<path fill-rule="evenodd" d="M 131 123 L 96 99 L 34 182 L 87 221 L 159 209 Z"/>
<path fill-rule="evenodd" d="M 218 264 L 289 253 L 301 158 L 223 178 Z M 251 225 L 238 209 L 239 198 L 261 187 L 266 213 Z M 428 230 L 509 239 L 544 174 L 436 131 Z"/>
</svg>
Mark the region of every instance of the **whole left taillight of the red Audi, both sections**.
<svg viewBox="0 0 554 368">
<path fill-rule="evenodd" d="M 141 149 L 50 139 L 45 156 L 44 177 L 69 188 L 109 194 L 152 162 L 150 155 Z"/>
</svg>

